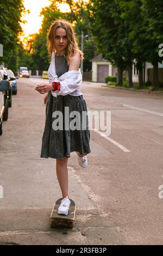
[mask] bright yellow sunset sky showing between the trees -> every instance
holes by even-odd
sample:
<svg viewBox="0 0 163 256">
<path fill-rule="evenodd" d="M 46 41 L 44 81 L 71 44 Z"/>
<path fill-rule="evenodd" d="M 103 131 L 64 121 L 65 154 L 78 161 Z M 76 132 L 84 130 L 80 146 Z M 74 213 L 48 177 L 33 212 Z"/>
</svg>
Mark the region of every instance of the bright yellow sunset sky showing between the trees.
<svg viewBox="0 0 163 256">
<path fill-rule="evenodd" d="M 42 21 L 42 17 L 39 16 L 40 11 L 43 7 L 49 6 L 49 4 L 49 0 L 24 0 L 24 7 L 30 10 L 30 14 L 23 16 L 23 20 L 26 20 L 27 23 L 21 24 L 25 37 L 39 31 Z M 61 4 L 60 9 L 62 12 L 70 10 L 66 4 Z"/>
</svg>

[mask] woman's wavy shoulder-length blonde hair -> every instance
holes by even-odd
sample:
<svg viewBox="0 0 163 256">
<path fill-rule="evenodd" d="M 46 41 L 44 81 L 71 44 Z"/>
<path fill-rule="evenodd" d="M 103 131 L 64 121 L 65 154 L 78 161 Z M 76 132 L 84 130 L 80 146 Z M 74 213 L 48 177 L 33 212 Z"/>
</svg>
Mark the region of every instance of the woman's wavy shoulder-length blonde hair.
<svg viewBox="0 0 163 256">
<path fill-rule="evenodd" d="M 51 60 L 52 60 L 52 53 L 56 50 L 54 47 L 54 38 L 55 38 L 55 31 L 57 28 L 64 28 L 67 33 L 68 45 L 66 47 L 65 57 L 67 59 L 68 65 L 70 64 L 70 60 L 76 53 L 80 54 L 81 60 L 84 59 L 84 53 L 79 50 L 78 42 L 76 39 L 76 33 L 74 32 L 71 23 L 65 20 L 57 20 L 52 23 L 47 35 L 47 48 L 48 48 L 48 53 L 51 55 Z"/>
</svg>

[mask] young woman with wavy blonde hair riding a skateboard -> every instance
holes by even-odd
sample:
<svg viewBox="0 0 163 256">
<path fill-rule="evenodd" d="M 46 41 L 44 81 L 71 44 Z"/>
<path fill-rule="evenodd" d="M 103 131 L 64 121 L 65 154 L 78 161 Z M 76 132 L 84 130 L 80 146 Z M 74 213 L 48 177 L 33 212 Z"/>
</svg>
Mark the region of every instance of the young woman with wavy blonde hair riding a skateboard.
<svg viewBox="0 0 163 256">
<path fill-rule="evenodd" d="M 86 155 L 91 152 L 87 107 L 80 92 L 80 60 L 83 59 L 83 53 L 78 48 L 71 24 L 65 20 L 52 24 L 47 45 L 48 53 L 51 54 L 48 69 L 50 83 L 38 84 L 35 88 L 40 94 L 48 93 L 44 99 L 46 121 L 41 157 L 56 159 L 57 178 L 62 192 L 58 214 L 68 215 L 68 158 L 71 152 L 76 151 L 78 163 L 86 167 Z M 73 113 L 76 113 L 76 122 L 72 119 Z M 74 123 L 78 123 L 78 129 L 74 129 Z"/>
</svg>

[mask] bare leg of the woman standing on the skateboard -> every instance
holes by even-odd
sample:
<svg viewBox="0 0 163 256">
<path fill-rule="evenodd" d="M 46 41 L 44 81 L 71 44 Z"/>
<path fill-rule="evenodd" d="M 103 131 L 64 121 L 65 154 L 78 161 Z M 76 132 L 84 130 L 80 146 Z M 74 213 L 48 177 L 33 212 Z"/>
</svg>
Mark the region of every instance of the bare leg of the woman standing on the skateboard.
<svg viewBox="0 0 163 256">
<path fill-rule="evenodd" d="M 62 192 L 62 198 L 68 196 L 68 172 L 67 172 L 68 159 L 56 159 L 56 173 L 59 182 L 59 186 Z"/>
</svg>

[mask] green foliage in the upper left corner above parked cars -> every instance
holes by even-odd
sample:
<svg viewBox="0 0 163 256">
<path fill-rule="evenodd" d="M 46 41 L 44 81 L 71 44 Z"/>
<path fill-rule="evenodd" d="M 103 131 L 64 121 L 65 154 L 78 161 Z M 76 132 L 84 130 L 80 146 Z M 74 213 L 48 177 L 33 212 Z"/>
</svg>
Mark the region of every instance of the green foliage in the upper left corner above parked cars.
<svg viewBox="0 0 163 256">
<path fill-rule="evenodd" d="M 0 43 L 3 45 L 3 57 L 0 58 L 0 64 L 4 62 L 14 72 L 17 69 L 17 42 L 18 35 L 22 32 L 20 22 L 24 12 L 21 0 L 1 0 Z"/>
</svg>

